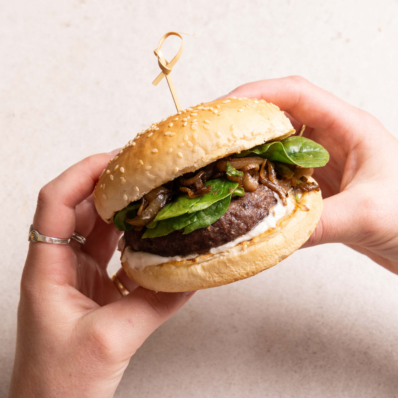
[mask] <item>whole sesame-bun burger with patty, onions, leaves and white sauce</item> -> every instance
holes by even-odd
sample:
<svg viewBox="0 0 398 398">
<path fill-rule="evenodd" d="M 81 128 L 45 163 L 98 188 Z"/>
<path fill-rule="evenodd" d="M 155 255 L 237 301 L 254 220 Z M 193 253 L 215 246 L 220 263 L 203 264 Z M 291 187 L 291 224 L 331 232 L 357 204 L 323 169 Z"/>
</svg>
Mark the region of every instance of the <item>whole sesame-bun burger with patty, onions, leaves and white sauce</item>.
<svg viewBox="0 0 398 398">
<path fill-rule="evenodd" d="M 124 231 L 129 278 L 154 291 L 225 285 L 272 267 L 312 234 L 322 211 L 316 142 L 293 135 L 272 103 L 225 98 L 137 134 L 94 190 L 103 220 Z"/>
</svg>

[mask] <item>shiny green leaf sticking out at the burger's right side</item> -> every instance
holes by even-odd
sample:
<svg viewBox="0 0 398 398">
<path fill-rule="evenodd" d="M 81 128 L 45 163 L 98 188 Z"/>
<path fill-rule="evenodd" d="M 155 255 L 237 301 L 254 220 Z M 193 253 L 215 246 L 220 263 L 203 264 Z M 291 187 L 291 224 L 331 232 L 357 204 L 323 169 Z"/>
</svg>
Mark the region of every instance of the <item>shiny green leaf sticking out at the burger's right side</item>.
<svg viewBox="0 0 398 398">
<path fill-rule="evenodd" d="M 329 161 L 328 151 L 320 144 L 305 137 L 287 137 L 281 141 L 267 142 L 236 155 L 237 158 L 253 156 L 301 167 L 321 167 Z"/>
</svg>

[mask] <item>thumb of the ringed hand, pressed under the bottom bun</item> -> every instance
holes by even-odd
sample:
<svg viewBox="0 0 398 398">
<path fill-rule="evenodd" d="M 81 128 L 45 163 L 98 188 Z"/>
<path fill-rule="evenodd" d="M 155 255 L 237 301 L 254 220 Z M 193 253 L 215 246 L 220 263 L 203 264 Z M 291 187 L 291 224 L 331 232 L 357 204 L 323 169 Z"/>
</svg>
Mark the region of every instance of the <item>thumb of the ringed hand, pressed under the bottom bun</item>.
<svg viewBox="0 0 398 398">
<path fill-rule="evenodd" d="M 130 358 L 146 338 L 192 297 L 190 293 L 162 293 L 138 287 L 129 295 L 88 314 L 106 331 L 119 355 Z"/>
</svg>

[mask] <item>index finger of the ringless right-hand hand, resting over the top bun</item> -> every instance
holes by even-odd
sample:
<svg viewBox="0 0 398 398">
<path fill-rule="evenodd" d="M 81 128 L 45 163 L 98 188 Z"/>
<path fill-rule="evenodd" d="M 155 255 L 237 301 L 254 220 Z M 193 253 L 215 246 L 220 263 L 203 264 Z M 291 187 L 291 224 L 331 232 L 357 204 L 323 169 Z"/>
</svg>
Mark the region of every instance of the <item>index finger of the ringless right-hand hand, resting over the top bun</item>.
<svg viewBox="0 0 398 398">
<path fill-rule="evenodd" d="M 356 109 L 300 76 L 261 80 L 244 84 L 228 96 L 264 99 L 275 103 L 299 123 L 326 130 L 342 123 L 354 123 Z"/>
</svg>

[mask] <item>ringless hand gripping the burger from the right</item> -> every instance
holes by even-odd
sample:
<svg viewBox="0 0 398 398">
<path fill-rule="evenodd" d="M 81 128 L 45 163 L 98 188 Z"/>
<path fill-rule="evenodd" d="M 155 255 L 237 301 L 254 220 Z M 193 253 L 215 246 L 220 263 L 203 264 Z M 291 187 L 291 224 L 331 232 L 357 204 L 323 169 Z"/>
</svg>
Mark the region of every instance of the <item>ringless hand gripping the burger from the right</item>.
<svg viewBox="0 0 398 398">
<path fill-rule="evenodd" d="M 244 84 L 228 96 L 275 103 L 328 150 L 330 161 L 314 172 L 324 209 L 304 246 L 341 242 L 398 274 L 398 140 L 369 113 L 300 76 Z"/>
</svg>

